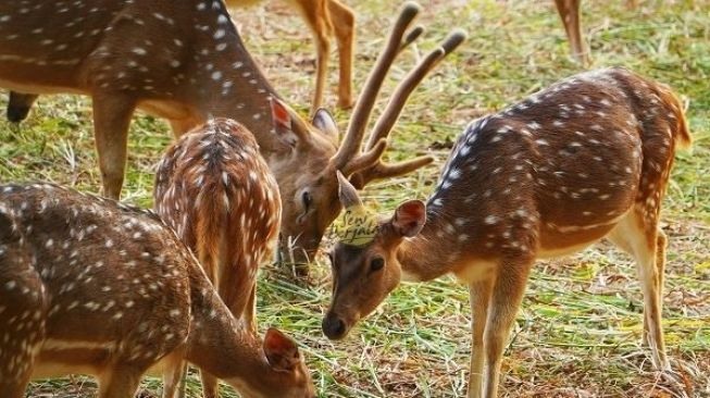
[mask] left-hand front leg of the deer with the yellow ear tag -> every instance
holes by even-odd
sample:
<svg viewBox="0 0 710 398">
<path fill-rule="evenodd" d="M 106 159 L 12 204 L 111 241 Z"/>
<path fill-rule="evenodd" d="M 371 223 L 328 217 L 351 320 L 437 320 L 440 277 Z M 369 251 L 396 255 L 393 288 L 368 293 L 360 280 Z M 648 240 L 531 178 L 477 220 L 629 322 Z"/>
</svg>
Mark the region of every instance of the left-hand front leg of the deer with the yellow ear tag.
<svg viewBox="0 0 710 398">
<path fill-rule="evenodd" d="M 471 365 L 469 368 L 469 398 L 478 398 L 483 393 L 483 365 L 485 351 L 483 334 L 488 318 L 488 303 L 494 279 L 472 283 L 469 285 L 471 303 Z"/>
</svg>

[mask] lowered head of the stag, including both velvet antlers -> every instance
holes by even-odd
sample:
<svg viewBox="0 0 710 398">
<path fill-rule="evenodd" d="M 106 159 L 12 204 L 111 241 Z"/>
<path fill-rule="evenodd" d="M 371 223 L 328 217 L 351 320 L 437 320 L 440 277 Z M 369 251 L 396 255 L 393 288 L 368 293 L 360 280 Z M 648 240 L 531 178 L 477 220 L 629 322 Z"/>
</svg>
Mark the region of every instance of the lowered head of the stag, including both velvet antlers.
<svg viewBox="0 0 710 398">
<path fill-rule="evenodd" d="M 389 67 L 397 54 L 423 33 L 420 26 L 407 32 L 419 11 L 419 5 L 408 3 L 400 12 L 388 42 L 360 94 L 339 147 L 337 124 L 327 111 L 319 110 L 309 124 L 283 102 L 272 99 L 275 133 L 294 148 L 290 154 L 270 159 L 284 207 L 279 246 L 282 259 L 303 264 L 315 254 L 325 229 L 341 210 L 337 196 L 337 172 L 348 177 L 353 186 L 362 188 L 371 181 L 403 175 L 433 161 L 431 157 L 420 157 L 389 164 L 381 158 L 387 147 L 386 138 L 413 89 L 465 39 L 465 34 L 460 30 L 451 33 L 399 84 L 371 130 L 364 150 L 361 150 L 375 100 Z M 297 271 L 304 272 L 306 269 L 299 266 Z"/>
</svg>

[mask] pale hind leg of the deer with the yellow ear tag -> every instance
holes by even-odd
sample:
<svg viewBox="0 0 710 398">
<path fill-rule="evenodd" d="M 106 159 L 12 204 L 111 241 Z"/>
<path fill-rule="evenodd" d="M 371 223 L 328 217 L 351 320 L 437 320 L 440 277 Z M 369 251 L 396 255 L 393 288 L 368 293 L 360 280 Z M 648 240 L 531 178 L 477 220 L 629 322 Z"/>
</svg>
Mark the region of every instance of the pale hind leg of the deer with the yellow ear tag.
<svg viewBox="0 0 710 398">
<path fill-rule="evenodd" d="M 644 293 L 643 338 L 651 348 L 653 365 L 657 369 L 668 369 L 661 325 L 661 273 L 665 264 L 665 235 L 658 229 L 657 216 L 657 213 L 645 216 L 644 210 L 636 207 L 611 231 L 609 240 L 634 257 Z"/>
</svg>

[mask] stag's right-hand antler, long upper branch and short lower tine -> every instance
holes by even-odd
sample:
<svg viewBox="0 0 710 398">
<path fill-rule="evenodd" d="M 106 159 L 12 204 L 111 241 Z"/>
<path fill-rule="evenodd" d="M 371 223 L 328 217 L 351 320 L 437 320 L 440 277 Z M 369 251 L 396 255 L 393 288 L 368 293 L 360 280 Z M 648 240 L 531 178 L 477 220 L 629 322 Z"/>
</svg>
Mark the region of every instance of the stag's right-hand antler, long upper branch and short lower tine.
<svg viewBox="0 0 710 398">
<path fill-rule="evenodd" d="M 463 30 L 453 30 L 449 36 L 441 42 L 441 46 L 432 52 L 429 52 L 408 75 L 397 86 L 395 94 L 390 98 L 385 111 L 379 115 L 377 123 L 375 123 L 374 128 L 370 135 L 366 149 L 370 151 L 374 148 L 379 141 L 387 138 L 391 128 L 397 123 L 399 115 L 401 114 L 402 108 L 407 103 L 409 96 L 412 94 L 414 88 L 424 79 L 426 74 L 432 71 L 446 55 L 451 53 L 457 47 L 459 47 L 463 40 L 465 40 L 466 34 Z M 376 163 L 370 165 L 368 169 L 362 170 L 358 175 L 352 176 L 352 183 L 358 188 L 364 187 L 369 182 L 373 179 L 394 177 L 398 175 L 403 175 L 410 173 L 419 167 L 422 167 L 434 161 L 434 158 L 425 156 L 414 158 L 409 161 L 403 161 L 395 164 L 384 163 L 379 158 L 376 159 Z"/>
</svg>

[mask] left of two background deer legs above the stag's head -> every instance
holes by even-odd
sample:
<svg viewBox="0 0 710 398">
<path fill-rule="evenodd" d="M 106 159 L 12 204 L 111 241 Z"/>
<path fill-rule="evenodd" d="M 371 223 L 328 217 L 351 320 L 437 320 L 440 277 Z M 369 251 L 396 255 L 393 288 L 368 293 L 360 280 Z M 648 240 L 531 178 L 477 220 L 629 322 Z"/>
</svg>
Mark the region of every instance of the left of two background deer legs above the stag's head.
<svg viewBox="0 0 710 398">
<path fill-rule="evenodd" d="M 328 57 L 331 55 L 329 34 L 332 29 L 329 26 L 329 15 L 326 14 L 327 10 L 323 9 L 322 3 L 315 3 L 316 4 L 314 7 L 301 8 L 301 12 L 306 17 L 306 22 L 313 32 L 313 38 L 315 39 L 315 52 L 317 57 L 315 62 L 315 92 L 313 94 L 313 102 L 311 103 L 311 115 L 315 114 L 315 111 L 321 108 L 323 102 L 325 76 L 328 70 Z"/>
</svg>

